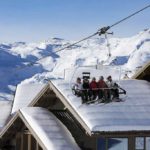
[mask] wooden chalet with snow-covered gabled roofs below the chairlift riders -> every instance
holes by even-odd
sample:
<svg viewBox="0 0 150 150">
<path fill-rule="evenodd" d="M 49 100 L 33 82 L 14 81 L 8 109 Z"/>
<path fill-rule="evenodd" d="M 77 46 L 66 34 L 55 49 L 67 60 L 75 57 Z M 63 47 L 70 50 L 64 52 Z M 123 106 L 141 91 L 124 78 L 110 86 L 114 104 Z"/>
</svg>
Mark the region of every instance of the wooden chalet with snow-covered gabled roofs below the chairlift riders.
<svg viewBox="0 0 150 150">
<path fill-rule="evenodd" d="M 150 83 L 120 85 L 122 102 L 89 105 L 65 80 L 18 85 L 0 150 L 149 150 Z"/>
</svg>

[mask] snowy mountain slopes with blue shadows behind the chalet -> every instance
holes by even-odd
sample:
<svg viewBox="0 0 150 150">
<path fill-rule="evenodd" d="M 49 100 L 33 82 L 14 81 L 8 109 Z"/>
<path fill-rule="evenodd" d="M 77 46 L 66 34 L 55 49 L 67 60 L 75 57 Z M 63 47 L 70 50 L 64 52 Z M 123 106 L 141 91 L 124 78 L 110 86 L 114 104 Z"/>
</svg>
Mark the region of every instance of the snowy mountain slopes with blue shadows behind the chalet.
<svg viewBox="0 0 150 150">
<path fill-rule="evenodd" d="M 108 63 L 132 70 L 150 61 L 150 29 L 130 38 L 110 38 L 112 57 Z M 0 44 L 0 99 L 11 100 L 20 82 L 46 82 L 47 78 L 62 78 L 64 70 L 82 65 L 95 65 L 108 58 L 106 39 L 92 38 L 59 53 L 58 49 L 73 43 L 52 38 L 41 43 L 16 42 Z M 31 67 L 29 63 L 49 55 Z M 21 69 L 24 67 L 24 69 Z"/>
</svg>

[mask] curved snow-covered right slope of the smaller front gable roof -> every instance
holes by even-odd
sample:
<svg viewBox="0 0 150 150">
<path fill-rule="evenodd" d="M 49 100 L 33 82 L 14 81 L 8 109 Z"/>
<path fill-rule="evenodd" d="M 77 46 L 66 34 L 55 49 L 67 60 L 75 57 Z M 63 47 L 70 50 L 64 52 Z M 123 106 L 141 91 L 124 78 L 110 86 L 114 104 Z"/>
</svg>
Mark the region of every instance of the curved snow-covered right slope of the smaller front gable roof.
<svg viewBox="0 0 150 150">
<path fill-rule="evenodd" d="M 20 110 L 30 132 L 45 150 L 79 150 L 67 128 L 48 110 L 26 107 Z"/>
</svg>

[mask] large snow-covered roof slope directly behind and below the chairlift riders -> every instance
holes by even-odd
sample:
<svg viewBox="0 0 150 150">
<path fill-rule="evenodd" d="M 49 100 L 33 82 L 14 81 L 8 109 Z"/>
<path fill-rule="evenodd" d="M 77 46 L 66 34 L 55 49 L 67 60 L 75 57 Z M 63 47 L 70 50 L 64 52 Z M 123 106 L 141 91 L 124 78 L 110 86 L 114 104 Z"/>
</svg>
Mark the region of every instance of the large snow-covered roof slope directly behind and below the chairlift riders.
<svg viewBox="0 0 150 150">
<path fill-rule="evenodd" d="M 92 132 L 150 130 L 150 83 L 142 80 L 121 80 L 127 91 L 124 102 L 82 104 L 64 80 L 51 81 Z"/>
</svg>

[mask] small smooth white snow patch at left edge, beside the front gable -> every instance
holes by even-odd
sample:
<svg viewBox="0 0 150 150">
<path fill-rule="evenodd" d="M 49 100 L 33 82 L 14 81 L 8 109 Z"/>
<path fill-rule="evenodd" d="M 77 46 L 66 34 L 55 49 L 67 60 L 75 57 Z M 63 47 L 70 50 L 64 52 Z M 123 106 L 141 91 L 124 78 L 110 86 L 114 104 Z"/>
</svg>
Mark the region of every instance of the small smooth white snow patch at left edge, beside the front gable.
<svg viewBox="0 0 150 150">
<path fill-rule="evenodd" d="M 12 101 L 0 101 L 0 130 L 5 125 L 10 112 L 11 112 Z"/>
</svg>

